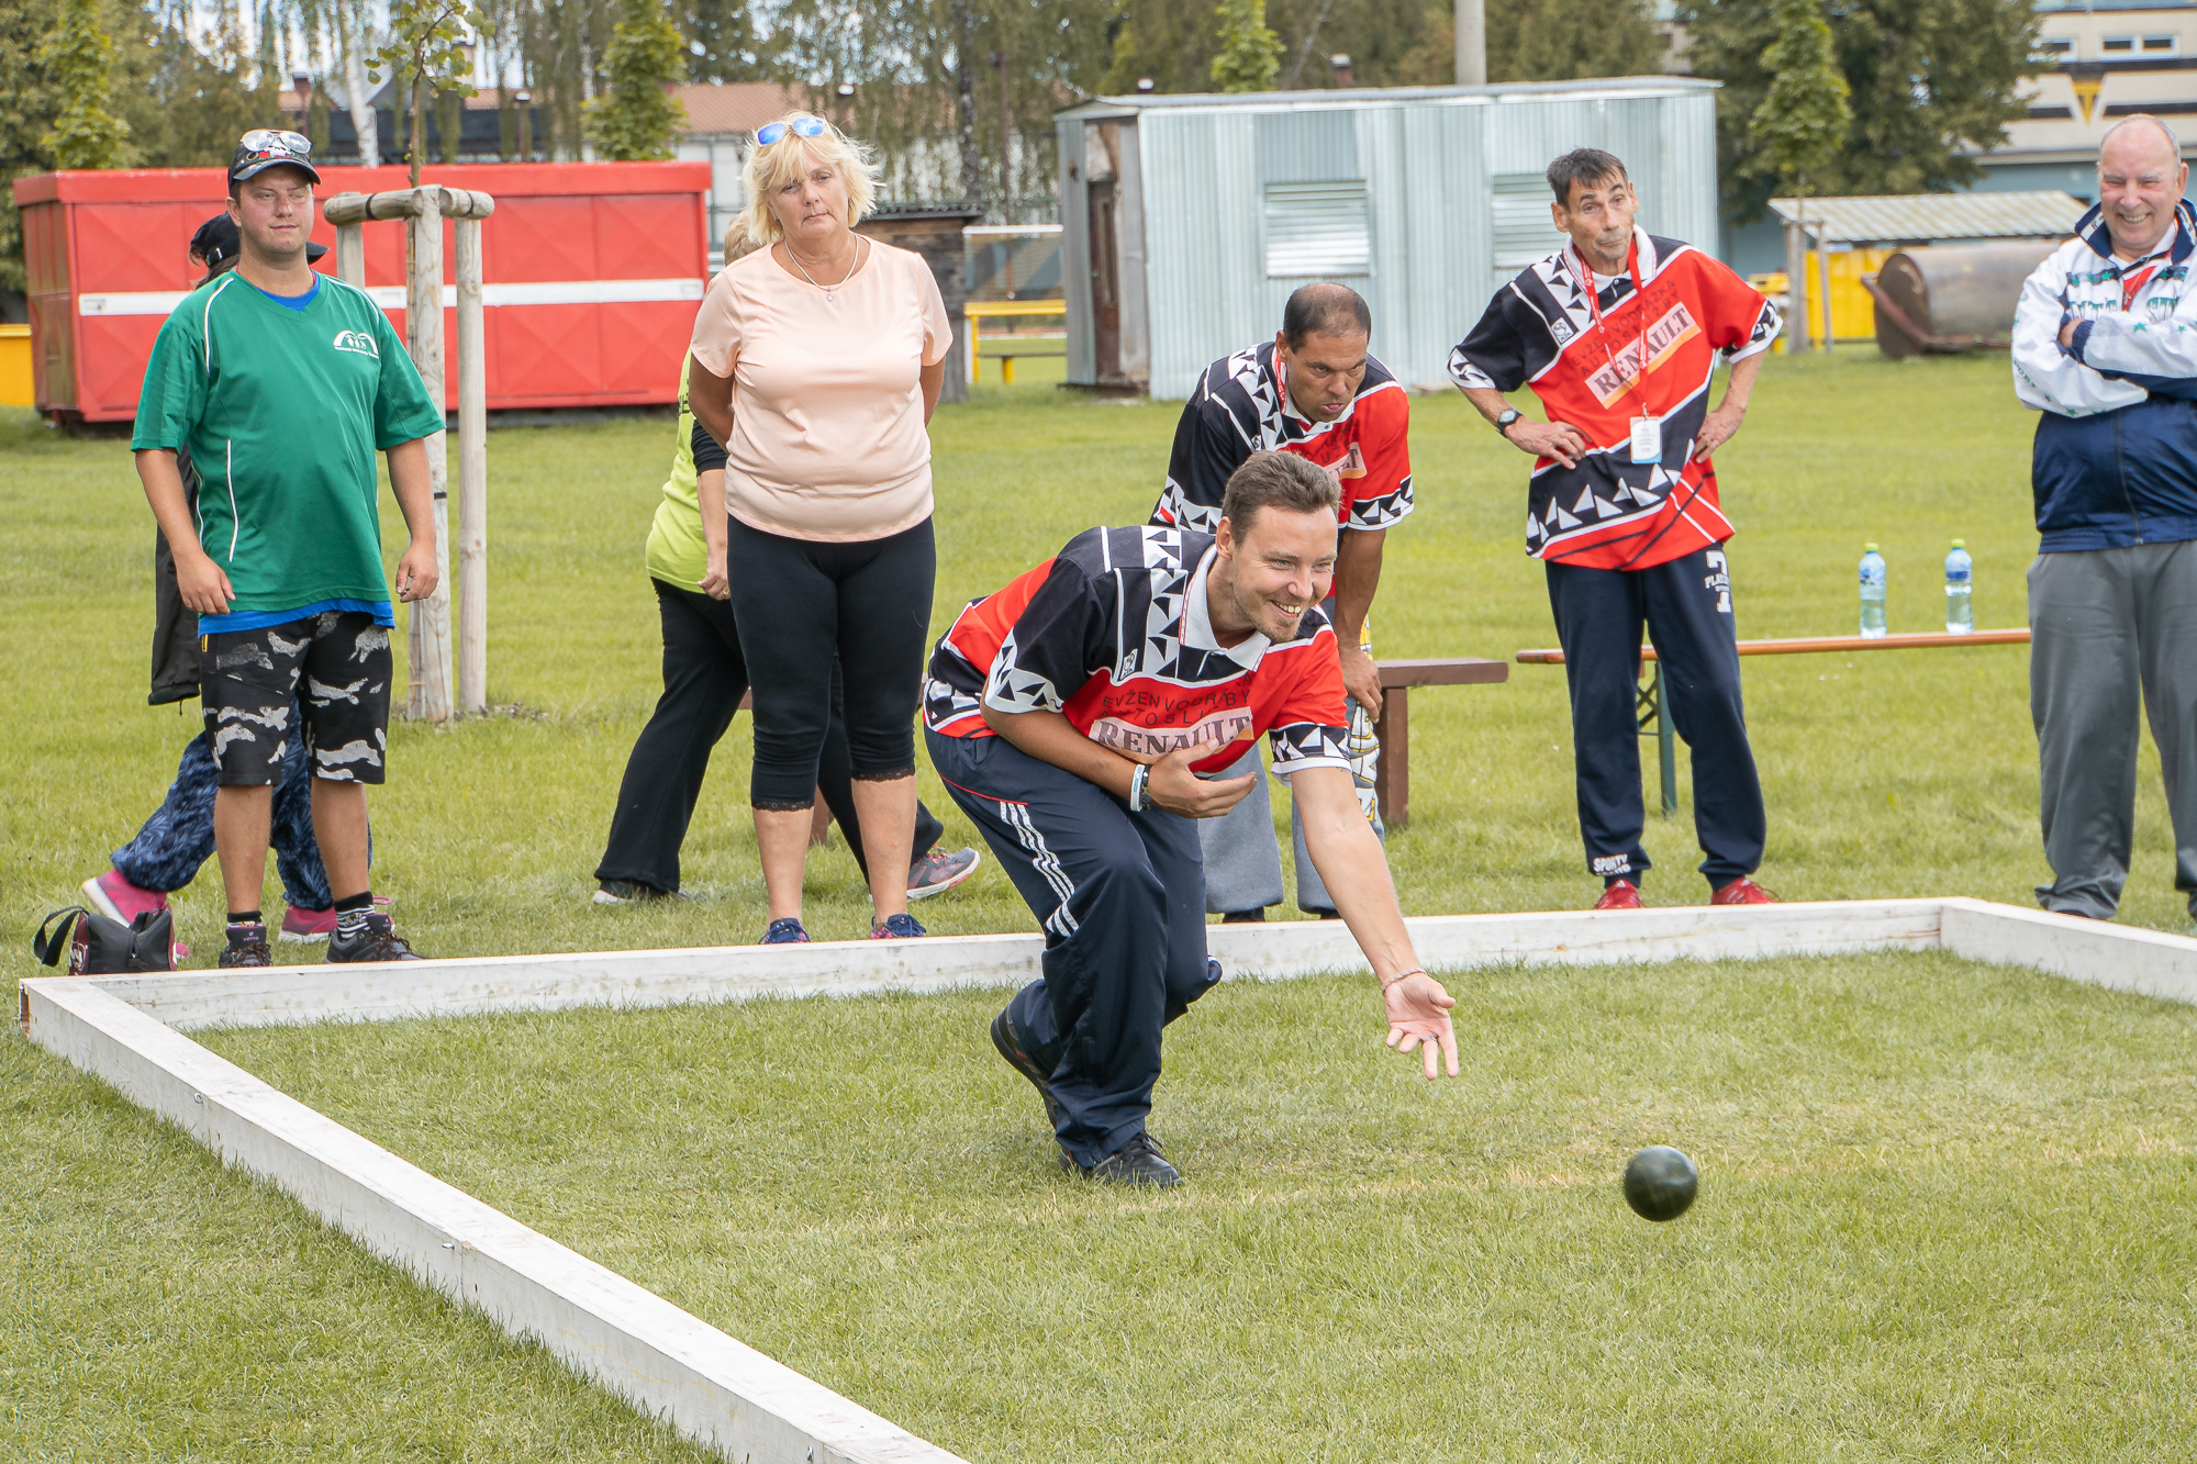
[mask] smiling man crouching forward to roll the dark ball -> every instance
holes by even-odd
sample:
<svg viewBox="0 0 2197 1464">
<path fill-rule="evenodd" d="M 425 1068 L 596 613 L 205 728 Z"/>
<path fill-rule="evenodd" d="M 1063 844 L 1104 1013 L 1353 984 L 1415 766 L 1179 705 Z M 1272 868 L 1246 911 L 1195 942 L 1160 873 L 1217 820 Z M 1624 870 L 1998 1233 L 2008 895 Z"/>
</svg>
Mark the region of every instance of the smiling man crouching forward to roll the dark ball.
<svg viewBox="0 0 2197 1464">
<path fill-rule="evenodd" d="M 1373 967 L 1389 1044 L 1457 1075 L 1457 1002 L 1410 952 L 1342 750 L 1320 600 L 1336 486 L 1259 453 L 1213 534 L 1094 528 L 973 600 L 932 655 L 932 765 L 1046 930 L 1044 978 L 991 1024 L 1037 1086 L 1061 1167 L 1127 1185 L 1180 1174 L 1145 1128 L 1160 1029 L 1219 980 L 1197 824 L 1257 778 L 1213 778 L 1268 734 L 1336 908 Z"/>
</svg>

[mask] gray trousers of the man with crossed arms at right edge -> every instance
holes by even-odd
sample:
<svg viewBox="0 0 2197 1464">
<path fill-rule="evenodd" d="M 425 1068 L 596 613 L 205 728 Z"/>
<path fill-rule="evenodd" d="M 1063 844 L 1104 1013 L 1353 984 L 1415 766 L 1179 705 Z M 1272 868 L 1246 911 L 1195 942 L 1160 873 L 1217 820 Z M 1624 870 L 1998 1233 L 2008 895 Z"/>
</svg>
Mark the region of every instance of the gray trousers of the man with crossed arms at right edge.
<svg viewBox="0 0 2197 1464">
<path fill-rule="evenodd" d="M 2138 710 L 2175 829 L 2175 888 L 2197 914 L 2197 543 L 2039 554 L 2030 565 L 2045 910 L 2111 919 L 2135 833 Z"/>
</svg>

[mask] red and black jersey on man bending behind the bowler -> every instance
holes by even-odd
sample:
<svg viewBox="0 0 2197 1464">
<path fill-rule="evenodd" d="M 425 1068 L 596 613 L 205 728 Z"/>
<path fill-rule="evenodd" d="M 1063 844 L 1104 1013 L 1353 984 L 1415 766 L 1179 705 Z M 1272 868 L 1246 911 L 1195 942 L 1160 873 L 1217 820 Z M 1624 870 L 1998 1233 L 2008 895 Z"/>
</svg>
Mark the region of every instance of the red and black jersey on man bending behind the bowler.
<svg viewBox="0 0 2197 1464">
<path fill-rule="evenodd" d="M 1410 398 L 1389 367 L 1367 356 L 1358 396 L 1334 422 L 1314 422 L 1292 402 L 1274 343 L 1206 367 L 1175 424 L 1167 488 L 1153 523 L 1211 534 L 1222 521 L 1228 475 L 1252 453 L 1294 453 L 1327 468 L 1342 490 L 1342 528 L 1375 530 L 1410 512 Z"/>
</svg>

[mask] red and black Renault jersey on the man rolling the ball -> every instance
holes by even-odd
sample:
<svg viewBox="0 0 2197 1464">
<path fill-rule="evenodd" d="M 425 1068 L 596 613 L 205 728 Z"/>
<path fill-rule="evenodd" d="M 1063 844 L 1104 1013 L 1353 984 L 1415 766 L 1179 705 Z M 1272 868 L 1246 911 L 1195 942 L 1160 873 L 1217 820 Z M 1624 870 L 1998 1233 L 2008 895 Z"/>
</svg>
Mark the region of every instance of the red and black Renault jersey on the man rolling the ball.
<svg viewBox="0 0 2197 1464">
<path fill-rule="evenodd" d="M 1342 666 L 1318 607 L 1296 635 L 1222 648 L 1206 609 L 1213 536 L 1175 528 L 1085 530 L 997 594 L 971 600 L 932 653 L 923 725 L 995 736 L 984 708 L 1061 712 L 1138 763 L 1182 747 L 1222 772 L 1268 734 L 1274 776 L 1349 767 Z"/>
</svg>

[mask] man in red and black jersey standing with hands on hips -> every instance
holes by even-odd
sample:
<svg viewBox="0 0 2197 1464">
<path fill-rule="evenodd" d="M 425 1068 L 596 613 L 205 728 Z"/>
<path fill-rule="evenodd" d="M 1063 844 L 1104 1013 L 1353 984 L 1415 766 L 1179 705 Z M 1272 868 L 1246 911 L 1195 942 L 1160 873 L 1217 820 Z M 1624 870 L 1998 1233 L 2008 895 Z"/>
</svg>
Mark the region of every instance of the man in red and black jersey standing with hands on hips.
<svg viewBox="0 0 2197 1464">
<path fill-rule="evenodd" d="M 1641 849 L 1635 684 L 1641 624 L 1694 754 L 1694 831 L 1709 903 L 1769 903 L 1749 875 L 1766 820 L 1740 706 L 1731 576 L 1709 453 L 1740 431 L 1777 310 L 1692 244 L 1635 226 L 1626 165 L 1582 147 L 1549 165 L 1571 242 L 1496 290 L 1450 352 L 1450 376 L 1503 437 L 1534 455 L 1525 543 L 1549 565 L 1571 684 L 1573 765 L 1597 910 L 1637 910 Z M 1709 409 L 1718 358 L 1731 363 Z M 1503 400 L 1531 385 L 1549 413 Z"/>
</svg>

